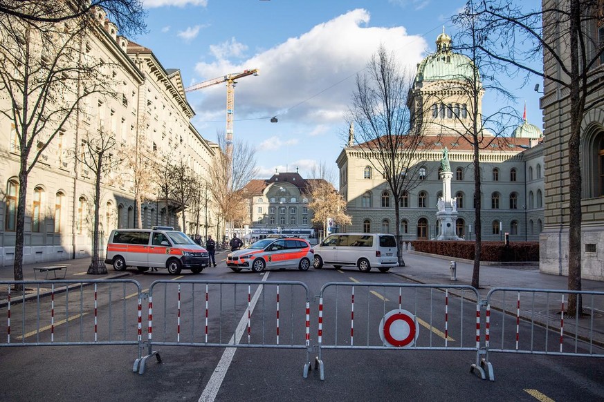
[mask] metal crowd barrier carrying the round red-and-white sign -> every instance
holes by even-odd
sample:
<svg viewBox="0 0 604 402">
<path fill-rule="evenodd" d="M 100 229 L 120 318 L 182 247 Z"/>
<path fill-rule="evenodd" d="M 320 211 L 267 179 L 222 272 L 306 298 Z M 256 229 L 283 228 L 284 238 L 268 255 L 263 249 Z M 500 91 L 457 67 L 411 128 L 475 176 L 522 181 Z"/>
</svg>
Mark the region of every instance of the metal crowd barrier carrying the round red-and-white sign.
<svg viewBox="0 0 604 402">
<path fill-rule="evenodd" d="M 477 300 L 478 291 L 464 285 L 326 283 L 319 295 L 315 358 L 320 379 L 323 350 L 392 348 L 475 352 L 470 371 L 486 378 L 480 366 Z M 355 314 L 359 306 L 363 314 Z"/>
</svg>

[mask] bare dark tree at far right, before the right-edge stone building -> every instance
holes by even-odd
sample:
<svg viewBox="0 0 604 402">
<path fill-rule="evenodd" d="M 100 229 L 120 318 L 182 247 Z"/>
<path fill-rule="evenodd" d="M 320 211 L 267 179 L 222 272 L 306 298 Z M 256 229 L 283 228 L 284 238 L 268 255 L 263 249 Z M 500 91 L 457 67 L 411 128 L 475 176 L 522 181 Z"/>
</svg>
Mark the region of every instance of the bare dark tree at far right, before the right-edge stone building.
<svg viewBox="0 0 604 402">
<path fill-rule="evenodd" d="M 596 68 L 601 65 L 604 47 L 594 28 L 602 21 L 603 10 L 600 0 L 546 0 L 540 10 L 509 1 L 482 0 L 466 8 L 479 24 L 477 48 L 508 67 L 512 75 L 523 71 L 542 77 L 546 95 L 550 90 L 568 93 L 568 112 L 562 113 L 569 118 L 569 290 L 581 289 L 581 122 L 586 113 L 604 102 L 594 96 L 604 86 L 603 70 Z M 568 309 L 569 314 L 582 314 L 580 298 L 570 295 Z"/>
</svg>

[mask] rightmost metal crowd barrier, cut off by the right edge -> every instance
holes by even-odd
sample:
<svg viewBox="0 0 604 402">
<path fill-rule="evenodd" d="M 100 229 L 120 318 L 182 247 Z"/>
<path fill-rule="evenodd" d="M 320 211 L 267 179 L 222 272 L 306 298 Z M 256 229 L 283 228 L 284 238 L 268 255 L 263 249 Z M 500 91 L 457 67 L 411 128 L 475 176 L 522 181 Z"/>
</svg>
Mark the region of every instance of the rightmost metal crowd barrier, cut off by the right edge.
<svg viewBox="0 0 604 402">
<path fill-rule="evenodd" d="M 566 314 L 570 295 L 583 300 L 581 316 L 578 310 Z M 604 357 L 604 291 L 499 287 L 488 292 L 484 304 L 486 352 L 481 365 L 491 381 L 491 353 Z"/>
</svg>

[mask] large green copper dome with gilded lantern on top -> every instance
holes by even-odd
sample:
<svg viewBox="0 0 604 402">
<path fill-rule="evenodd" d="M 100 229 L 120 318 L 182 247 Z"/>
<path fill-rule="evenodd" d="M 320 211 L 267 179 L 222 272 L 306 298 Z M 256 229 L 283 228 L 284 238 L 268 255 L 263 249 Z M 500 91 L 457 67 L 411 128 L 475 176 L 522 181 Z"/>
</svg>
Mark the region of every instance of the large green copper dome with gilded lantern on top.
<svg viewBox="0 0 604 402">
<path fill-rule="evenodd" d="M 446 79 L 473 79 L 473 64 L 469 57 L 451 51 L 451 37 L 444 32 L 437 37 L 437 51 L 417 67 L 415 82 Z"/>
</svg>

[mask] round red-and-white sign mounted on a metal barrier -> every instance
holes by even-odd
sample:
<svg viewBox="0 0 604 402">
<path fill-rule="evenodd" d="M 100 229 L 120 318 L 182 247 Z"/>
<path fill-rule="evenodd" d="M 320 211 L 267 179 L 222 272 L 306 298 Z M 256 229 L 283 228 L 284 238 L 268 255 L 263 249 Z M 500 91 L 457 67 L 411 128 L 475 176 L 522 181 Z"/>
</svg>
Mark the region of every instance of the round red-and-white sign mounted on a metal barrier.
<svg viewBox="0 0 604 402">
<path fill-rule="evenodd" d="M 419 335 L 419 324 L 407 310 L 387 312 L 380 321 L 380 338 L 385 345 L 394 347 L 412 346 Z"/>
</svg>

